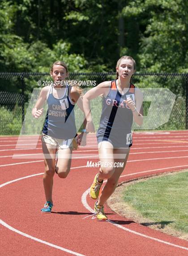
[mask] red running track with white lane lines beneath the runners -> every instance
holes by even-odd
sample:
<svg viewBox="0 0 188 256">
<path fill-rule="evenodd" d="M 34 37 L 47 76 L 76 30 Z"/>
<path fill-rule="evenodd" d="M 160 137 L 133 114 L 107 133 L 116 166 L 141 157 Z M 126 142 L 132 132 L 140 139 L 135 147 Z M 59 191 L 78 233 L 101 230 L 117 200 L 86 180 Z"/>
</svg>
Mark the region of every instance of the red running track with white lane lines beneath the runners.
<svg viewBox="0 0 188 256">
<path fill-rule="evenodd" d="M 98 222 L 90 216 L 94 200 L 89 198 L 88 189 L 98 168 L 85 166 L 87 161 L 98 161 L 95 135 L 88 136 L 87 147 L 73 153 L 68 177 L 54 177 L 51 214 L 40 212 L 45 202 L 40 140 L 37 149 L 21 150 L 15 150 L 17 137 L 1 137 L 0 141 L 2 256 L 188 255 L 187 241 L 118 216 L 107 205 L 105 212 L 110 221 Z M 33 141 L 30 137 L 20 143 Z M 22 156 L 15 159 L 14 154 Z M 120 182 L 185 168 L 188 131 L 135 133 Z"/>
</svg>

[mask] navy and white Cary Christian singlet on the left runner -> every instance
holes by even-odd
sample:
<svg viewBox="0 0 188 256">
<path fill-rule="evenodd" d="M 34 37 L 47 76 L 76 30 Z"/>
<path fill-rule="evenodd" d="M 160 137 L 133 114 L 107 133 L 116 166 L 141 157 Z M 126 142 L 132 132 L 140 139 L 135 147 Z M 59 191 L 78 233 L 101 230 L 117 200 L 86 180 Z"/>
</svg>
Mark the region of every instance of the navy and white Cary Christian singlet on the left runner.
<svg viewBox="0 0 188 256">
<path fill-rule="evenodd" d="M 53 96 L 54 86 L 51 86 L 47 97 L 47 116 L 42 132 L 56 139 L 72 139 L 77 135 L 74 117 L 74 103 L 69 98 L 69 86 L 61 99 Z"/>
</svg>

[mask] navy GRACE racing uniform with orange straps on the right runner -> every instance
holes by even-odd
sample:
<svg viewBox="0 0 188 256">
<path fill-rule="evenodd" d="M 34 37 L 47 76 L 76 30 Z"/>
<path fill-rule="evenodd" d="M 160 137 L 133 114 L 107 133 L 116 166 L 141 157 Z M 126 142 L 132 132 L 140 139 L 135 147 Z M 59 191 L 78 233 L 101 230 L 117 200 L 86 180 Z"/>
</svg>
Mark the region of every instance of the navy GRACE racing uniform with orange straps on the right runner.
<svg viewBox="0 0 188 256">
<path fill-rule="evenodd" d="M 111 89 L 103 97 L 103 109 L 100 126 L 97 130 L 97 141 L 109 141 L 114 148 L 129 148 L 132 146 L 132 110 L 124 100 L 131 98 L 135 103 L 135 86 L 130 85 L 128 92 L 120 94 L 116 80 L 111 81 Z"/>
</svg>

